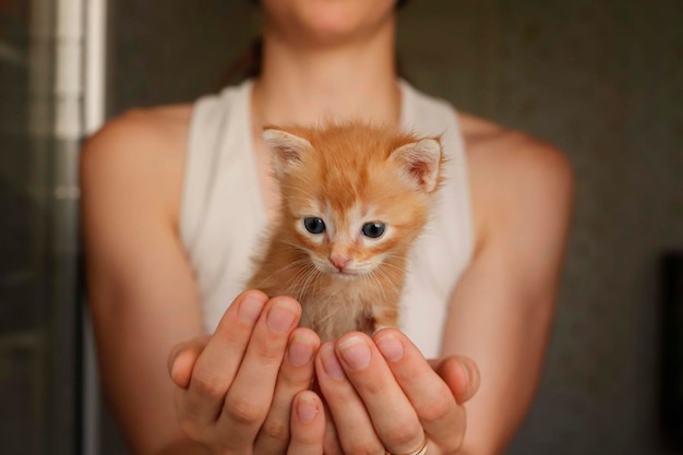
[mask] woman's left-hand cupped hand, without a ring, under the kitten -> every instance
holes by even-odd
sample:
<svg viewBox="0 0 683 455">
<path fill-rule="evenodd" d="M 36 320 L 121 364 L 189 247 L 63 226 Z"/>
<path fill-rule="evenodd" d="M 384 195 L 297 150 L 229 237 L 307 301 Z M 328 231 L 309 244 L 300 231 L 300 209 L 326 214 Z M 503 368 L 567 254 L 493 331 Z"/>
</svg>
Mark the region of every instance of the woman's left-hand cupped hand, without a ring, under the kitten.
<svg viewBox="0 0 683 455">
<path fill-rule="evenodd" d="M 212 336 L 169 357 L 183 432 L 217 454 L 322 454 L 325 415 L 309 391 L 319 337 L 295 328 L 301 307 L 240 295 Z"/>
</svg>

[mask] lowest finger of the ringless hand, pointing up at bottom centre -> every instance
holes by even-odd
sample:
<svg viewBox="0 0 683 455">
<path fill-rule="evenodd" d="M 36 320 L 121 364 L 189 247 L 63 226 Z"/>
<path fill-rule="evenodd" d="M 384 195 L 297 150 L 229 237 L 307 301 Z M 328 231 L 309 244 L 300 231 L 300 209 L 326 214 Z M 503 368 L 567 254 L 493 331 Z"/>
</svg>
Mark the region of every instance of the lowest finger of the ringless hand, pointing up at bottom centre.
<svg viewBox="0 0 683 455">
<path fill-rule="evenodd" d="M 299 393 L 291 407 L 289 455 L 322 455 L 325 433 L 323 404 L 311 391 Z"/>
</svg>

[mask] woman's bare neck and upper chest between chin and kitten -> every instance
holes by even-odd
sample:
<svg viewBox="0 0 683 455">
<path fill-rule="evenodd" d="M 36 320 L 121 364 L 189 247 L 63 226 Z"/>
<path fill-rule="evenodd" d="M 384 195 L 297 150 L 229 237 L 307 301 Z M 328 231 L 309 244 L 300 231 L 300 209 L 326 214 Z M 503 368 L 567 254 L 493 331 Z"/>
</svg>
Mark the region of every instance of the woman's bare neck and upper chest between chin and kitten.
<svg viewBox="0 0 683 455">
<path fill-rule="evenodd" d="M 394 21 L 345 45 L 301 49 L 264 34 L 262 74 L 253 89 L 254 127 L 362 118 L 397 123 Z"/>
</svg>

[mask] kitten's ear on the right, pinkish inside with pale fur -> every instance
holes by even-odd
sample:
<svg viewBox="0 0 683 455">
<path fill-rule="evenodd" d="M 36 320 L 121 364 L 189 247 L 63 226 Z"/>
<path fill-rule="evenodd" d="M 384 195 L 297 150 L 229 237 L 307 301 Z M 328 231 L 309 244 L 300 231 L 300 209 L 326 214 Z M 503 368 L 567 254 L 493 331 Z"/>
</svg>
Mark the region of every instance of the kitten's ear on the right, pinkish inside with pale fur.
<svg viewBox="0 0 683 455">
<path fill-rule="evenodd" d="M 392 152 L 406 171 L 407 176 L 420 185 L 426 193 L 436 189 L 439 170 L 442 157 L 441 142 L 436 139 L 421 139 L 410 144 L 402 145 Z"/>
</svg>

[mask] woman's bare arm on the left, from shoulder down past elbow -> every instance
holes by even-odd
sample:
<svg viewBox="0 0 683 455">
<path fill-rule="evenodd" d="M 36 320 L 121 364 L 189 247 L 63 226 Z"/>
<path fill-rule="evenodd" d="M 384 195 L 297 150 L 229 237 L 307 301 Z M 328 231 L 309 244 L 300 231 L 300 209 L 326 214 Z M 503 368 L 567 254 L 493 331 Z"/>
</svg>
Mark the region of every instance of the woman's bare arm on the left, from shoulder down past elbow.
<svg viewBox="0 0 683 455">
<path fill-rule="evenodd" d="M 89 139 L 81 160 L 88 304 L 107 397 L 135 453 L 181 440 L 166 359 L 201 334 L 178 241 L 181 111 L 128 113 Z M 190 453 L 190 452 L 185 452 Z"/>
</svg>

